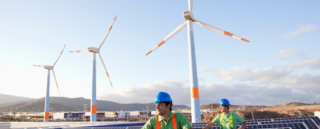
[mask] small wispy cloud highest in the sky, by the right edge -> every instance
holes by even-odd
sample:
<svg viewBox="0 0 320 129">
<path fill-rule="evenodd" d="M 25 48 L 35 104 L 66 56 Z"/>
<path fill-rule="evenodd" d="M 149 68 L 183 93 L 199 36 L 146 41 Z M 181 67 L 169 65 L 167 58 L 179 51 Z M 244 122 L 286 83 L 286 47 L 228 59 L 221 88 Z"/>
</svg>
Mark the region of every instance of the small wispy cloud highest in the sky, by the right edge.
<svg viewBox="0 0 320 129">
<path fill-rule="evenodd" d="M 297 37 L 297 36 L 305 34 L 305 33 L 315 33 L 319 30 L 320 30 L 320 26 L 315 26 L 312 24 L 298 25 L 296 30 L 289 32 L 288 34 L 283 35 L 283 37 L 284 38 L 292 38 L 292 37 Z"/>
</svg>

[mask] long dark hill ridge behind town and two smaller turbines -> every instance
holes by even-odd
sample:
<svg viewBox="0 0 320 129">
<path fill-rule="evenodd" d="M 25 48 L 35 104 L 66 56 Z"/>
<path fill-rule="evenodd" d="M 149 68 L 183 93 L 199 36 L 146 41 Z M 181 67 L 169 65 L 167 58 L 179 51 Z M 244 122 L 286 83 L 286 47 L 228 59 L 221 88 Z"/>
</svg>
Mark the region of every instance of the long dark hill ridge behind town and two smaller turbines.
<svg viewBox="0 0 320 129">
<path fill-rule="evenodd" d="M 40 111 L 44 110 L 44 98 L 42 98 L 42 103 L 40 102 L 41 98 L 39 99 L 33 99 L 28 101 L 19 101 L 19 102 L 12 102 L 12 103 L 5 103 L 0 104 L 0 110 L 8 110 L 9 107 L 21 109 L 21 110 L 27 110 L 28 111 L 34 111 L 36 109 L 40 109 Z M 50 103 L 49 108 L 53 110 L 50 111 L 84 111 L 84 104 L 87 105 L 87 111 L 90 111 L 90 99 L 85 99 L 83 97 L 78 98 L 67 98 L 67 97 L 50 97 L 50 102 L 52 99 L 52 103 Z M 37 102 L 36 102 L 37 101 Z M 59 104 L 59 105 L 58 105 Z M 33 105 L 33 106 L 32 106 Z M 67 108 L 68 107 L 68 108 Z M 97 100 L 97 111 L 142 111 L 147 110 L 147 104 L 119 104 L 111 101 L 103 101 L 103 100 Z M 172 109 L 180 108 L 185 109 L 189 108 L 186 105 L 173 105 Z M 148 109 L 151 111 L 156 111 L 156 105 L 153 103 L 148 104 Z"/>
</svg>

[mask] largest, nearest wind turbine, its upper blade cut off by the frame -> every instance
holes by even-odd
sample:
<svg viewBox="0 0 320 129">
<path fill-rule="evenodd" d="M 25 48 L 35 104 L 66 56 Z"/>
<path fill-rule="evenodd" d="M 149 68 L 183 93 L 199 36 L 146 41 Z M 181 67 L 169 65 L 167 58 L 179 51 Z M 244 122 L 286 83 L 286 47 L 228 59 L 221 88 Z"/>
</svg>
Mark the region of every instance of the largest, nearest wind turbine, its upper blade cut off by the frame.
<svg viewBox="0 0 320 129">
<path fill-rule="evenodd" d="M 149 51 L 146 55 L 150 54 L 168 39 L 170 39 L 173 35 L 179 32 L 184 26 L 188 25 L 188 50 L 189 50 L 189 70 L 190 70 L 190 91 L 191 91 L 191 115 L 192 115 L 192 123 L 200 123 L 200 101 L 199 101 L 199 89 L 198 89 L 198 78 L 197 78 L 197 67 L 196 67 L 196 54 L 195 54 L 195 45 L 193 39 L 193 27 L 192 22 L 196 22 L 203 26 L 204 28 L 210 29 L 215 32 L 219 32 L 221 34 L 230 36 L 232 38 L 240 39 L 246 42 L 250 42 L 246 39 L 240 38 L 236 35 L 233 35 L 229 32 L 223 31 L 219 28 L 216 28 L 212 25 L 206 24 L 199 20 L 193 18 L 192 14 L 192 0 L 188 0 L 189 10 L 182 11 L 183 17 L 186 20 L 185 23 L 179 25 L 175 28 L 167 37 L 165 37 L 159 44 L 156 45 L 151 51 Z"/>
</svg>

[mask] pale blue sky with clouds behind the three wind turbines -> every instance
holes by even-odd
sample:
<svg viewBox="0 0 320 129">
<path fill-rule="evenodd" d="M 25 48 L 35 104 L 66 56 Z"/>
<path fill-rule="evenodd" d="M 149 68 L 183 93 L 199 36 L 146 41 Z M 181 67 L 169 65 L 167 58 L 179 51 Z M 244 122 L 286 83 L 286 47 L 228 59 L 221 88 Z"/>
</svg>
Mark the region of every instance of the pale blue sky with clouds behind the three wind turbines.
<svg viewBox="0 0 320 129">
<path fill-rule="evenodd" d="M 244 42 L 193 22 L 200 105 L 227 98 L 233 105 L 320 103 L 320 2 L 193 1 L 194 18 Z M 60 97 L 91 98 L 92 53 L 99 47 L 113 88 L 97 61 L 97 99 L 151 103 L 168 92 L 190 106 L 187 26 L 145 56 L 185 22 L 187 0 L 0 1 L 1 94 L 45 96 L 54 66 Z M 97 60 L 98 60 L 97 56 Z M 58 97 L 50 78 L 50 96 Z"/>
</svg>

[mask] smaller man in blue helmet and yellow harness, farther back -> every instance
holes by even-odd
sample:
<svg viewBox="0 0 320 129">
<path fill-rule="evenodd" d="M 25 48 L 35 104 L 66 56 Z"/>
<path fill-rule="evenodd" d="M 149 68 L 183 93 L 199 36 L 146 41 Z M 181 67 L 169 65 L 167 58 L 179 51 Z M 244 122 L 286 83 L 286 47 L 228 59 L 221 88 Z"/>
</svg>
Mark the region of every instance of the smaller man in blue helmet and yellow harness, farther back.
<svg viewBox="0 0 320 129">
<path fill-rule="evenodd" d="M 244 129 L 247 126 L 247 122 L 243 118 L 238 114 L 229 111 L 230 103 L 227 99 L 221 99 L 219 106 L 221 114 L 217 115 L 212 122 L 202 129 L 208 129 L 217 123 L 220 124 L 220 129 L 236 129 L 238 122 L 242 123 L 242 127 L 238 129 Z"/>
</svg>

